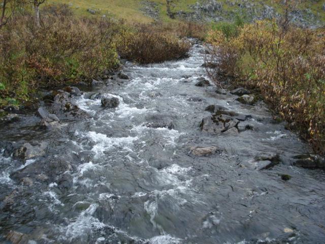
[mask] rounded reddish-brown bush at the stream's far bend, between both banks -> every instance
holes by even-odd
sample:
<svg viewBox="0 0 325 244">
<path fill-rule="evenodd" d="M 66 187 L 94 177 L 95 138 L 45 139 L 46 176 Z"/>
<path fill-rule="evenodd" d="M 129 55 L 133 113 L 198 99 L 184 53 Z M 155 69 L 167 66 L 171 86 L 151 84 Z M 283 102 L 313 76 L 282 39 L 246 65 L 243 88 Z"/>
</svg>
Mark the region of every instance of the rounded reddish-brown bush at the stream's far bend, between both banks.
<svg viewBox="0 0 325 244">
<path fill-rule="evenodd" d="M 157 31 L 149 25 L 137 26 L 134 33 L 126 32 L 118 43 L 122 58 L 141 64 L 159 63 L 187 56 L 190 43 L 172 33 Z"/>
</svg>

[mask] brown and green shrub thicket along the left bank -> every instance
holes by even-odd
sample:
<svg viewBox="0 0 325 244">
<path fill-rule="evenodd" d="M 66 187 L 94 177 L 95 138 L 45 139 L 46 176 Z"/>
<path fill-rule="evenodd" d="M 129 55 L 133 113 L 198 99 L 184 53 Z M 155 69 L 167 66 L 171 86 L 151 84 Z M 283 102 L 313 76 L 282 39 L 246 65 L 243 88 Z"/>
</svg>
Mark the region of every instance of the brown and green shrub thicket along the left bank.
<svg viewBox="0 0 325 244">
<path fill-rule="evenodd" d="M 36 28 L 29 15 L 0 31 L 0 96 L 28 100 L 40 87 L 89 81 L 119 64 L 115 36 L 121 26 L 109 19 L 43 17 Z"/>
</svg>

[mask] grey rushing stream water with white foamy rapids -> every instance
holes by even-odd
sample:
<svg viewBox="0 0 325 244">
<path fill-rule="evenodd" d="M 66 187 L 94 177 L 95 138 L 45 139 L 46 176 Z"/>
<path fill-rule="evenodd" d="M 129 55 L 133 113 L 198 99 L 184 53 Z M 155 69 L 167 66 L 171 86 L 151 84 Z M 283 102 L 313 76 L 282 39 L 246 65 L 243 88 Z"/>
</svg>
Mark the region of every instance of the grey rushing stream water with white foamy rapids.
<svg viewBox="0 0 325 244">
<path fill-rule="evenodd" d="M 4 141 L 47 149 L 24 165 L 0 158 L 0 241 L 13 230 L 28 243 L 324 243 L 325 174 L 291 166 L 310 148 L 262 103 L 194 86 L 205 76 L 202 48 L 180 61 L 126 64 L 130 80 L 93 90 L 118 97 L 116 109 L 85 93 L 74 102 L 91 118 L 44 130 L 26 115 L 2 128 Z M 211 104 L 252 115 L 245 123 L 254 130 L 202 132 Z M 174 129 L 148 128 L 153 118 Z M 222 152 L 197 157 L 191 146 Z M 254 158 L 270 154 L 280 164 L 256 170 Z M 23 176 L 32 183 L 22 184 Z"/>
</svg>

